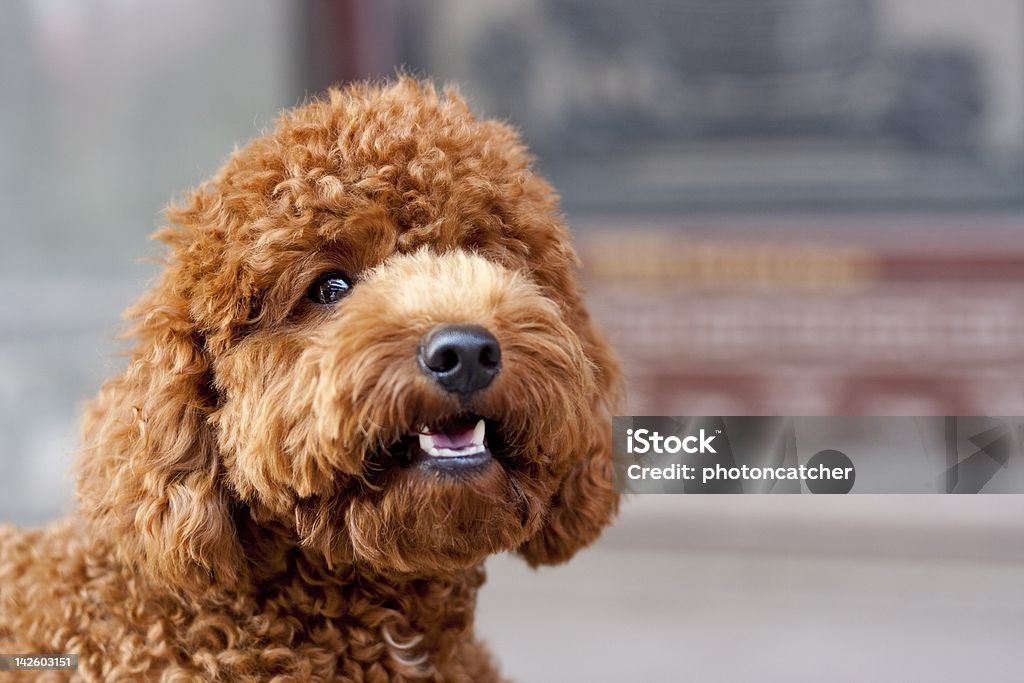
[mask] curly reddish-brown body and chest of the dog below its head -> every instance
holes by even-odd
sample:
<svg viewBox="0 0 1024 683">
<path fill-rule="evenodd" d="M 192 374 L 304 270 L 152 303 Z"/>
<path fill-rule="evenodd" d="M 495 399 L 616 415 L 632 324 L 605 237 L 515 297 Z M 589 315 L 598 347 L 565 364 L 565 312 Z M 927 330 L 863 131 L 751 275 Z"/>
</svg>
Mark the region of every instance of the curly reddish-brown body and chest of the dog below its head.
<svg viewBox="0 0 1024 683">
<path fill-rule="evenodd" d="M 252 590 L 183 598 L 75 522 L 0 527 L 0 651 L 78 653 L 86 681 L 499 680 L 473 636 L 482 569 L 388 581 L 268 560 Z"/>
</svg>

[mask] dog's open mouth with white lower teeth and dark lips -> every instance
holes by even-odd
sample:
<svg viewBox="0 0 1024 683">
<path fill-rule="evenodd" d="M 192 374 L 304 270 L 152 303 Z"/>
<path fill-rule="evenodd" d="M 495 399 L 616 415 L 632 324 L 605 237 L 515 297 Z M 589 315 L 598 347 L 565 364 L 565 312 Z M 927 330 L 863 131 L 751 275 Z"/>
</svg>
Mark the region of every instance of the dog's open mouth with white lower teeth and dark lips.
<svg viewBox="0 0 1024 683">
<path fill-rule="evenodd" d="M 403 438 L 393 455 L 408 465 L 464 470 L 488 463 L 499 439 L 496 426 L 476 415 L 463 415 L 435 425 L 421 425 Z"/>
</svg>

